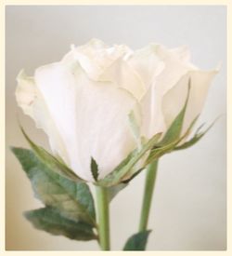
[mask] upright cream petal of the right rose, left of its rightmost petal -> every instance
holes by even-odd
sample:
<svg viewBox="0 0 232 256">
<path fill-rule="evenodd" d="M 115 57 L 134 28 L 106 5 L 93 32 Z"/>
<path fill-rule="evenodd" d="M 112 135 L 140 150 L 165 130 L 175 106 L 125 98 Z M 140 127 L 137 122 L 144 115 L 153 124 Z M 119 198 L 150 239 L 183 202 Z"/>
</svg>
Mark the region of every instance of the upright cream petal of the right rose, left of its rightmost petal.
<svg viewBox="0 0 232 256">
<path fill-rule="evenodd" d="M 187 47 L 167 49 L 160 45 L 153 45 L 153 50 L 164 67 L 160 74 L 154 76 L 152 85 L 141 101 L 142 134 L 148 138 L 157 132 L 164 132 L 166 129 L 161 105 L 164 94 L 173 88 L 184 74 L 187 74 L 190 69 L 194 69 L 189 63 Z"/>
</svg>

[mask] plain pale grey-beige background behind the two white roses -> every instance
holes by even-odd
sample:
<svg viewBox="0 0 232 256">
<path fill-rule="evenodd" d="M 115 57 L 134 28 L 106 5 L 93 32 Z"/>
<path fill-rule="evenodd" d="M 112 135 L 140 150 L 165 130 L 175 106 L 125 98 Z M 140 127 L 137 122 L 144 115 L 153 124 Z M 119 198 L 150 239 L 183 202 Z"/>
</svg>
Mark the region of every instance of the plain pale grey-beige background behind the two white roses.
<svg viewBox="0 0 232 256">
<path fill-rule="evenodd" d="M 201 122 L 223 117 L 194 147 L 161 158 L 148 227 L 149 250 L 226 249 L 226 7 L 73 6 L 6 7 L 6 249 L 95 250 L 96 242 L 76 242 L 32 228 L 22 211 L 41 203 L 9 145 L 28 147 L 17 118 L 33 141 L 47 147 L 45 134 L 21 114 L 14 90 L 21 68 L 28 74 L 59 61 L 70 45 L 97 37 L 132 48 L 156 42 L 187 45 L 202 69 L 222 68 L 213 81 Z M 110 206 L 112 249 L 122 249 L 137 230 L 143 174 Z"/>
</svg>

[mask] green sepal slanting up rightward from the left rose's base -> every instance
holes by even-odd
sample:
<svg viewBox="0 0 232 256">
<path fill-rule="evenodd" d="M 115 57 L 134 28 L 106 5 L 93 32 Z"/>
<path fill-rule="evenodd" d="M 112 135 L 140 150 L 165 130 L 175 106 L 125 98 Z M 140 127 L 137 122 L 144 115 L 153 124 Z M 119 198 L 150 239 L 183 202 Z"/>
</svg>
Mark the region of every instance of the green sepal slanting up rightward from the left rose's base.
<svg viewBox="0 0 232 256">
<path fill-rule="evenodd" d="M 110 174 L 108 174 L 103 180 L 97 182 L 97 185 L 100 186 L 113 186 L 122 182 L 123 177 L 130 171 L 137 161 L 145 155 L 148 150 L 154 147 L 154 145 L 161 138 L 161 133 L 154 135 L 145 145 L 142 146 L 141 150 L 135 150 L 129 154 L 122 163 L 115 168 Z M 131 176 L 134 175 L 134 172 L 131 172 Z"/>
</svg>

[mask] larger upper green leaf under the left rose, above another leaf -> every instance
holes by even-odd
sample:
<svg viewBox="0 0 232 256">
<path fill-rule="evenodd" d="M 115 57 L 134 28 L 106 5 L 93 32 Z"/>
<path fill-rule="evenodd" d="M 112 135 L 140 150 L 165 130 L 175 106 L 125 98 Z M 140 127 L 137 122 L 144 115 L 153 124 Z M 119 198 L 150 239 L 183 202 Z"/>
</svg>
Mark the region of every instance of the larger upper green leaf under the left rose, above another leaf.
<svg viewBox="0 0 232 256">
<path fill-rule="evenodd" d="M 72 221 L 96 225 L 93 196 L 84 182 L 73 182 L 48 168 L 31 150 L 12 148 L 32 182 L 34 194 L 45 206 L 56 208 Z"/>
</svg>

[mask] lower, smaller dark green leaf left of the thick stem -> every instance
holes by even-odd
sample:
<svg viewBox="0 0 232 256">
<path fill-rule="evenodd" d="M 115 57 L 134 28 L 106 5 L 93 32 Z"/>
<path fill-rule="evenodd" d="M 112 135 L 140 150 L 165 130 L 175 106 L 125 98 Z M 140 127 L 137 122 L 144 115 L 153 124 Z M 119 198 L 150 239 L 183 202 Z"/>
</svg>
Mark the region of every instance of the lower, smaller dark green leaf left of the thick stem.
<svg viewBox="0 0 232 256">
<path fill-rule="evenodd" d="M 89 241 L 97 239 L 93 226 L 85 222 L 73 222 L 64 218 L 57 209 L 43 208 L 24 212 L 24 216 L 32 225 L 54 236 L 66 236 L 70 239 Z"/>
</svg>

